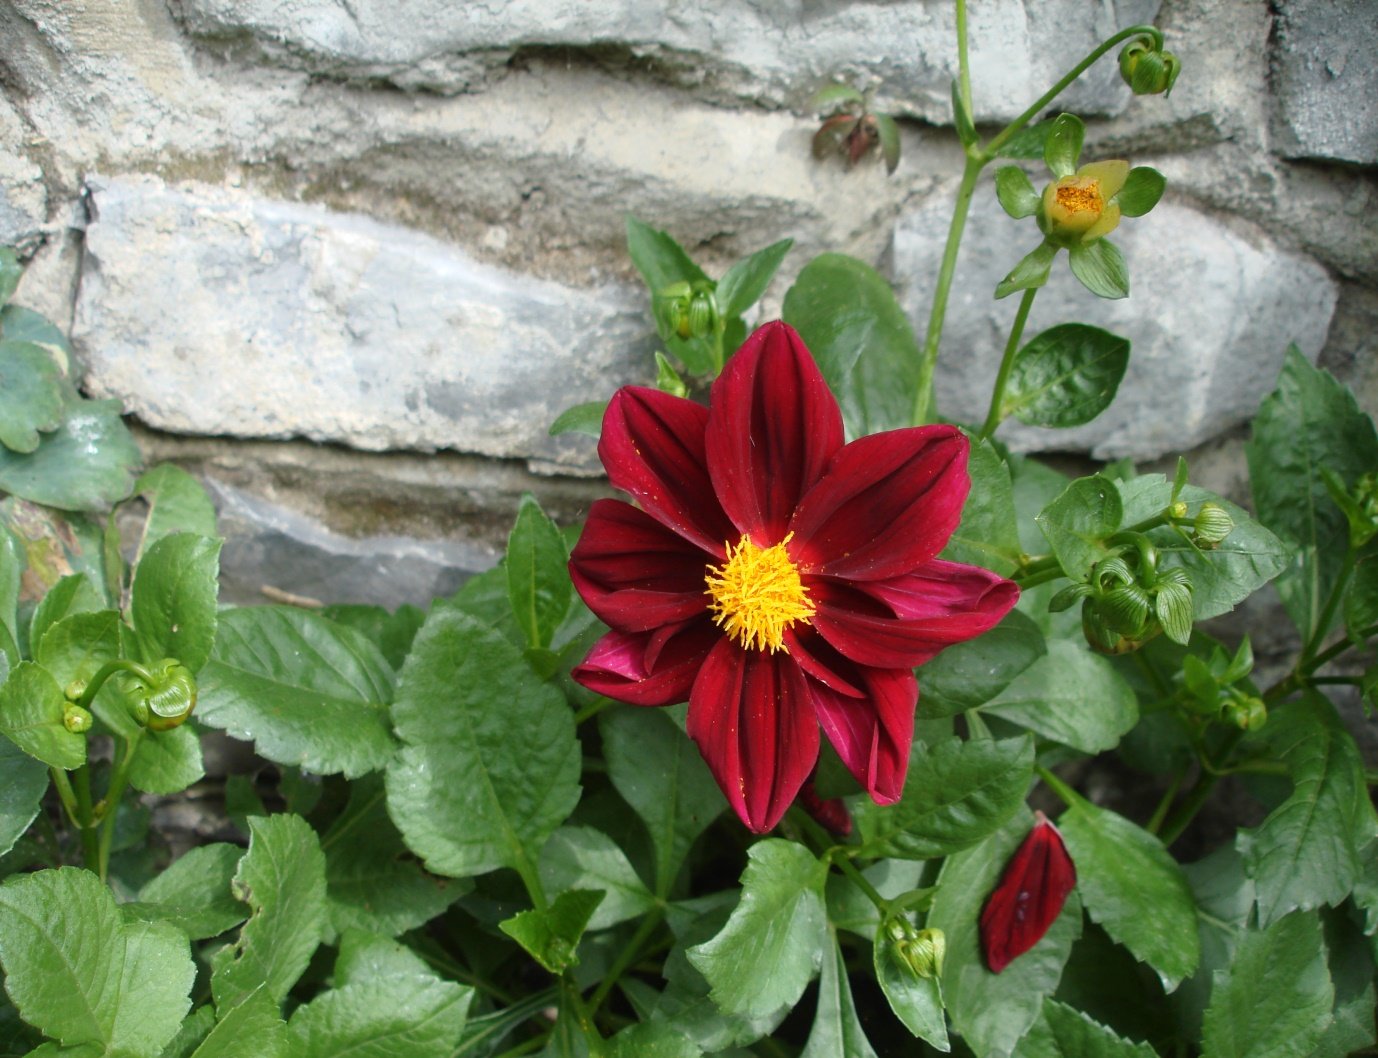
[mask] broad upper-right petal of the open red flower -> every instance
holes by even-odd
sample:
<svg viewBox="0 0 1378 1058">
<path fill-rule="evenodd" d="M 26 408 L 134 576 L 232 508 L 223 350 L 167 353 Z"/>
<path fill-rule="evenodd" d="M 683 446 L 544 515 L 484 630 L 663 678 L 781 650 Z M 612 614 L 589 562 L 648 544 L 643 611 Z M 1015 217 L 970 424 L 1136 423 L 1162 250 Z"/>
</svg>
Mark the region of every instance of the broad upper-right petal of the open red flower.
<svg viewBox="0 0 1378 1058">
<path fill-rule="evenodd" d="M 799 503 L 790 552 L 806 573 L 903 576 L 932 559 L 971 488 L 967 439 L 954 426 L 871 434 L 843 446 Z"/>
</svg>

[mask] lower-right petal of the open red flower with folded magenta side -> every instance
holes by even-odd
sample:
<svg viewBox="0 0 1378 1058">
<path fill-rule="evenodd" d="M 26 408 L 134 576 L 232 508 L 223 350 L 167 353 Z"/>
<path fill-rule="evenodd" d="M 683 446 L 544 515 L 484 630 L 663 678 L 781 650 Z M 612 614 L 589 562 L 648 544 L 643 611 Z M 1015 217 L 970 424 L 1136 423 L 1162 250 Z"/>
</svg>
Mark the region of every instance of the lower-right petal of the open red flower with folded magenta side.
<svg viewBox="0 0 1378 1058">
<path fill-rule="evenodd" d="M 893 805 L 904 794 L 919 685 L 907 668 L 860 665 L 857 682 L 865 687 L 864 698 L 813 685 L 819 723 L 871 799 L 876 805 Z"/>
</svg>

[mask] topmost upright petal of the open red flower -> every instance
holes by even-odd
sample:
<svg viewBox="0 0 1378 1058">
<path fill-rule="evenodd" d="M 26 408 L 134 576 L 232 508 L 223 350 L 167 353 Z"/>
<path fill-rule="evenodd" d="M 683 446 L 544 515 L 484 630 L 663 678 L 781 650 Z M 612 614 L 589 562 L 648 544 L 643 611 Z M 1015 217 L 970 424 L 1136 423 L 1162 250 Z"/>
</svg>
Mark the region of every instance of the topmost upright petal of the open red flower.
<svg viewBox="0 0 1378 1058">
<path fill-rule="evenodd" d="M 733 525 L 780 543 L 801 497 L 842 448 L 842 412 L 803 339 L 773 322 L 748 338 L 712 384 L 707 452 Z"/>
</svg>

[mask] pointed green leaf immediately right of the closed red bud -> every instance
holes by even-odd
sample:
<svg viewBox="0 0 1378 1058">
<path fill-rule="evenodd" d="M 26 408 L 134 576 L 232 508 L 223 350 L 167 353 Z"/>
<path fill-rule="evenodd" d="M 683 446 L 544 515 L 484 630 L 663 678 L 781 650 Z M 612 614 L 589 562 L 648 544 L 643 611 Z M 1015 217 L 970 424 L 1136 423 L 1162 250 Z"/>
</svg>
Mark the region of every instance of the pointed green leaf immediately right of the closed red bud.
<svg viewBox="0 0 1378 1058">
<path fill-rule="evenodd" d="M 1202 953 L 1196 904 L 1177 861 L 1152 833 L 1089 800 L 1079 799 L 1057 825 L 1086 913 L 1171 992 Z"/>
</svg>

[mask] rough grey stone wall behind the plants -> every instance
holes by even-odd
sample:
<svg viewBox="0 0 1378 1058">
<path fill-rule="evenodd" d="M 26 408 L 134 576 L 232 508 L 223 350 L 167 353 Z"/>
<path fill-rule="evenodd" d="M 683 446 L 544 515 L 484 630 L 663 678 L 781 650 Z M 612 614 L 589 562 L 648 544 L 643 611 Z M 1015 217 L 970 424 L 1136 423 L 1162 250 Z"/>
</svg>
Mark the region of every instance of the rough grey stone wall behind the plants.
<svg viewBox="0 0 1378 1058">
<path fill-rule="evenodd" d="M 1239 437 L 1288 342 L 1378 405 L 1378 18 L 1371 0 L 980 0 L 995 125 L 1115 29 L 1184 62 L 1134 99 L 1112 58 L 1064 106 L 1087 157 L 1169 176 L 1116 240 L 1127 302 L 1056 278 L 1032 328 L 1134 340 L 1120 400 L 1022 449 L 1163 459 L 1239 493 Z M 887 271 L 916 325 L 960 153 L 945 0 L 0 0 L 0 242 L 72 328 L 85 388 L 220 506 L 226 594 L 424 602 L 493 561 L 524 489 L 604 488 L 565 406 L 648 380 L 631 212 L 710 271 L 792 236 Z M 810 157 L 806 101 L 875 84 L 903 160 Z M 1034 171 L 1034 167 L 1031 167 Z M 1035 175 L 1035 179 L 1042 179 Z M 941 406 L 984 409 L 1013 314 L 978 190 Z"/>
</svg>

